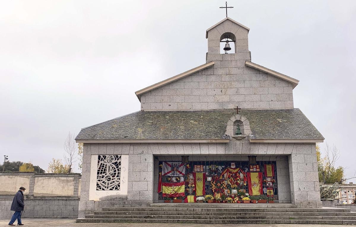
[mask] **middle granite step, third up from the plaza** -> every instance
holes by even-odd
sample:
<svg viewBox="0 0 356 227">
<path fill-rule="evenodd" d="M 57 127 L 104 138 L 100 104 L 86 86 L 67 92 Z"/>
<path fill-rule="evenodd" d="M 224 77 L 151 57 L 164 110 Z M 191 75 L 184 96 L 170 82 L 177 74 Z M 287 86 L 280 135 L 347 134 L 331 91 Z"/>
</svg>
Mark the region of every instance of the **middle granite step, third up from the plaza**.
<svg viewBox="0 0 356 227">
<path fill-rule="evenodd" d="M 284 212 L 94 211 L 94 215 L 356 216 L 356 213 L 354 212 L 288 212 L 288 211 L 284 211 Z"/>
</svg>

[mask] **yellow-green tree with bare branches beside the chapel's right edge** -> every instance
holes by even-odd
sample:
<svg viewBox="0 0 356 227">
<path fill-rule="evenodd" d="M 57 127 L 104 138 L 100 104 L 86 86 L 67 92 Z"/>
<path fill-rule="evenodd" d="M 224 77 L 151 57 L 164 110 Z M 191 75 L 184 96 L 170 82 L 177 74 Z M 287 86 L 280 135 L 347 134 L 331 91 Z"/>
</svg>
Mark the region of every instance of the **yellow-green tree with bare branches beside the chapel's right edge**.
<svg viewBox="0 0 356 227">
<path fill-rule="evenodd" d="M 318 161 L 319 181 L 323 184 L 342 184 L 345 179 L 344 167 L 335 167 L 337 160 L 340 158 L 339 149 L 335 146 L 330 147 L 326 144 L 325 156 L 321 157 L 320 146 L 316 144 L 316 159 Z"/>
</svg>

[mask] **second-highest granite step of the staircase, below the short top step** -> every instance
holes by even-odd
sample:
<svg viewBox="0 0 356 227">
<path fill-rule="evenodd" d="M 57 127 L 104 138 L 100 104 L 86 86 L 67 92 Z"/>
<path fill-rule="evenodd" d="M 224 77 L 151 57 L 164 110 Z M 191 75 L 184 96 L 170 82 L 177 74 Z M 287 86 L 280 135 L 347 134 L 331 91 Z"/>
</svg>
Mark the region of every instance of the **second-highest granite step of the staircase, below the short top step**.
<svg viewBox="0 0 356 227">
<path fill-rule="evenodd" d="M 196 211 L 196 212 L 350 212 L 340 208 L 206 208 L 206 207 L 106 207 L 103 211 Z"/>
</svg>

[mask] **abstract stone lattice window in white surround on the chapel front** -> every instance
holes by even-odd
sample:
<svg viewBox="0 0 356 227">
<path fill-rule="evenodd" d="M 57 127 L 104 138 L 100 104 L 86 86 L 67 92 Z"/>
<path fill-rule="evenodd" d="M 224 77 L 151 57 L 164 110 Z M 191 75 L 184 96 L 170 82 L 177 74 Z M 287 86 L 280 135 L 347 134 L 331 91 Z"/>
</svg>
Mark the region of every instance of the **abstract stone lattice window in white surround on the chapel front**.
<svg viewBox="0 0 356 227">
<path fill-rule="evenodd" d="M 96 190 L 120 190 L 121 155 L 98 155 Z"/>
</svg>

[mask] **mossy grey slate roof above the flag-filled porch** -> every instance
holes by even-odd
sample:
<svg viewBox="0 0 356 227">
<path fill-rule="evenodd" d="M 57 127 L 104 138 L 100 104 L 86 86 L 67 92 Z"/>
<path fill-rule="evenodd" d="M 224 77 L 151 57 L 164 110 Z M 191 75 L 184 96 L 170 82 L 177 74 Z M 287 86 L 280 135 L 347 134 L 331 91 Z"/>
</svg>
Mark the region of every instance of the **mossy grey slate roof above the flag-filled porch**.
<svg viewBox="0 0 356 227">
<path fill-rule="evenodd" d="M 226 139 L 236 110 L 138 111 L 83 128 L 81 139 Z M 324 139 L 299 109 L 246 110 L 254 139 Z M 251 137 L 252 138 L 252 137 Z"/>
</svg>

